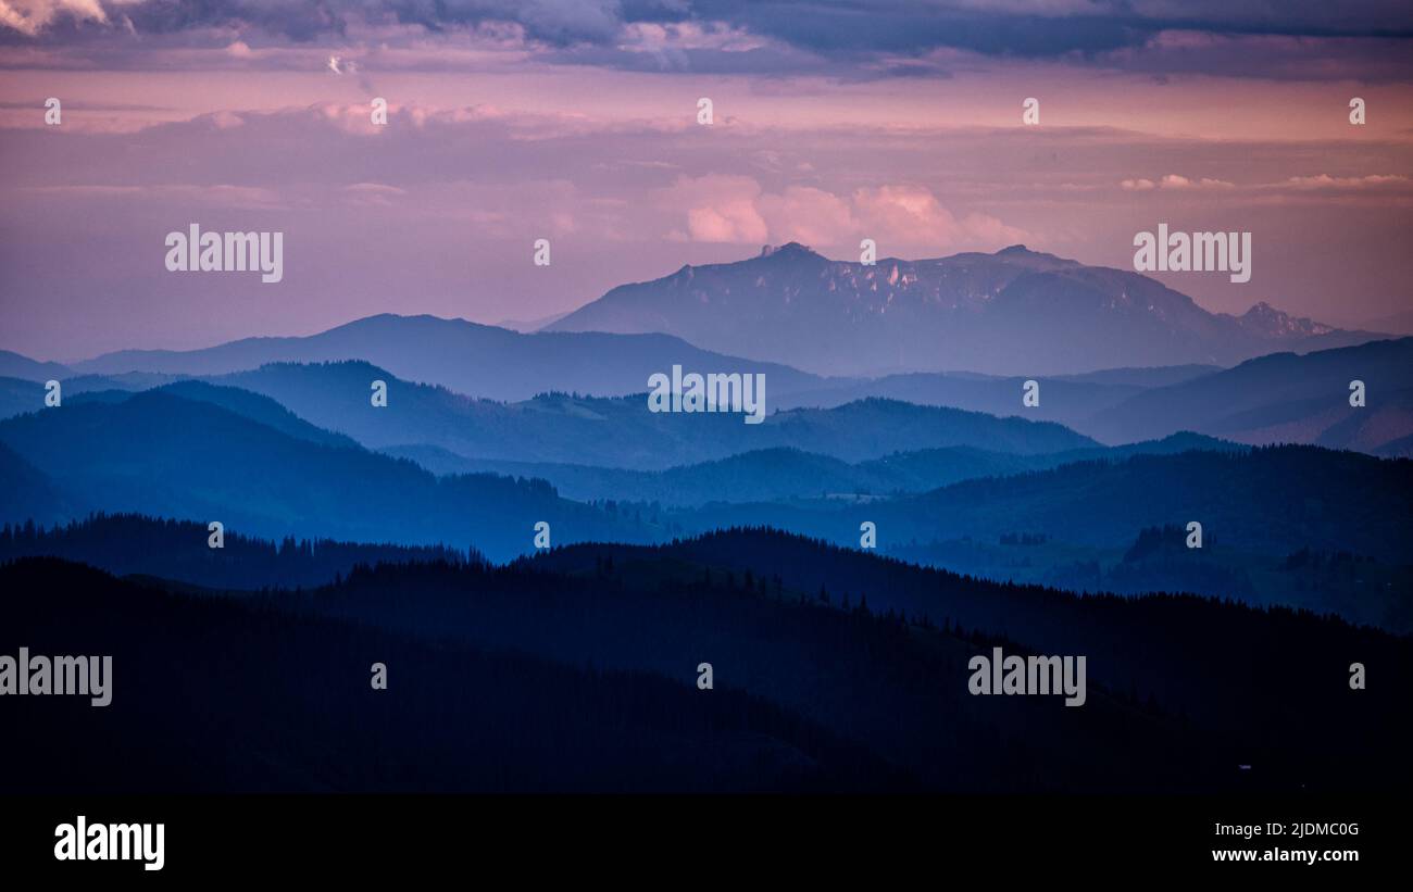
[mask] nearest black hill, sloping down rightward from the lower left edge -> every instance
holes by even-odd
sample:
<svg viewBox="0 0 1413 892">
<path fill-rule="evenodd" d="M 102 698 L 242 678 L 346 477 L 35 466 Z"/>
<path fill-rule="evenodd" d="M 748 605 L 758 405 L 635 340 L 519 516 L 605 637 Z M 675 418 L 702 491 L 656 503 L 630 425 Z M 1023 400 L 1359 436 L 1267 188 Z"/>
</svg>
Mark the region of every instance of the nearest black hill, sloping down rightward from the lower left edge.
<svg viewBox="0 0 1413 892">
<path fill-rule="evenodd" d="M 0 565 L 0 593 L 32 653 L 112 658 L 102 709 L 6 697 L 24 733 L 0 735 L 0 759 L 25 766 L 0 775 L 6 795 L 928 789 L 728 679 L 695 690 L 695 663 L 567 665 L 318 617 L 295 593 L 185 597 L 54 559 Z"/>
</svg>

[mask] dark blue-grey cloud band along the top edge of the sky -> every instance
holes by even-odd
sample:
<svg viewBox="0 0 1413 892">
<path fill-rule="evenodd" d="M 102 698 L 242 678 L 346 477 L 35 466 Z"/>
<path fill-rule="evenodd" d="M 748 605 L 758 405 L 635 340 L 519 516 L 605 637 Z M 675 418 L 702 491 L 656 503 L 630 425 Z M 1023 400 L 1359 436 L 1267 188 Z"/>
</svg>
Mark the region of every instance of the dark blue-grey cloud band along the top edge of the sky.
<svg viewBox="0 0 1413 892">
<path fill-rule="evenodd" d="M 1191 32 L 1224 38 L 1291 38 L 1304 58 L 1330 65 L 1362 61 L 1378 76 L 1409 76 L 1406 41 L 1413 4 L 1406 0 L 1283 3 L 1236 0 L 147 0 L 109 3 L 105 16 L 82 16 L 57 0 L 20 0 L 35 11 L 27 25 L 0 25 L 0 42 L 90 47 L 97 35 L 140 44 L 144 35 L 188 35 L 212 45 L 213 34 L 304 44 L 357 40 L 369 30 L 413 25 L 418 34 L 510 30 L 537 58 L 552 64 L 627 71 L 770 73 L 827 71 L 945 75 L 938 54 L 1010 59 L 1065 58 L 1140 71 L 1236 76 L 1290 76 L 1282 61 L 1253 52 L 1173 52 L 1154 38 Z M 0 18 L 3 23 L 3 18 Z M 634 27 L 661 25 L 653 45 Z M 25 34 L 28 31 L 28 34 Z M 763 47 L 704 47 L 684 35 L 729 31 Z M 1382 38 L 1382 40 L 1368 40 Z M 377 40 L 391 40 L 397 35 Z M 136 49 L 134 49 L 136 51 Z M 781 58 L 771 62 L 769 52 Z M 743 54 L 753 54 L 746 56 Z M 1136 58 L 1146 55 L 1142 62 Z M 1276 51 L 1279 55 L 1279 49 Z"/>
</svg>

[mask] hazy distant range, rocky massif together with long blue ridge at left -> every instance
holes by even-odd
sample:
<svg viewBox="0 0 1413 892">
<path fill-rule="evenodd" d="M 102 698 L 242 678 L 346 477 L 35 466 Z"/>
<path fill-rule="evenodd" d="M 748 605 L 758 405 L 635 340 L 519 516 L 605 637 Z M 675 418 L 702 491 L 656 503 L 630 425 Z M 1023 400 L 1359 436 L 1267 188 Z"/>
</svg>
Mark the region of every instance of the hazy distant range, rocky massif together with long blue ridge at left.
<svg viewBox="0 0 1413 892">
<path fill-rule="evenodd" d="M 1228 367 L 1376 337 L 1294 318 L 1266 302 L 1241 316 L 1211 313 L 1137 272 L 1024 246 L 863 265 L 790 243 L 736 263 L 685 265 L 658 279 L 619 285 L 536 333 L 383 313 L 309 336 L 122 350 L 68 366 L 0 351 L 0 377 L 191 377 L 268 363 L 365 360 L 410 381 L 514 401 L 545 391 L 630 394 L 646 387 L 650 374 L 681 364 L 769 373 L 773 394 L 783 398 L 859 384 L 849 378 L 911 373 L 1026 380 L 1125 367 Z"/>
</svg>

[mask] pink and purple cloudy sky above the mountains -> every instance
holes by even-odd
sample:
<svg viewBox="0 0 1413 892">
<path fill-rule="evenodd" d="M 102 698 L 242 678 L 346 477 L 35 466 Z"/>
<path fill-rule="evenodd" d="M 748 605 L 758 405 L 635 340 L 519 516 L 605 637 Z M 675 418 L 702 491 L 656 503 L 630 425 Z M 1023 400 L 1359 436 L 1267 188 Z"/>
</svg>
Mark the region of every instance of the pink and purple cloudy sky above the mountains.
<svg viewBox="0 0 1413 892">
<path fill-rule="evenodd" d="M 0 0 L 0 349 L 540 319 L 786 241 L 1132 268 L 1159 223 L 1252 233 L 1249 282 L 1156 274 L 1212 312 L 1369 326 L 1410 49 L 1406 1 Z M 283 281 L 168 271 L 191 223 Z"/>
</svg>

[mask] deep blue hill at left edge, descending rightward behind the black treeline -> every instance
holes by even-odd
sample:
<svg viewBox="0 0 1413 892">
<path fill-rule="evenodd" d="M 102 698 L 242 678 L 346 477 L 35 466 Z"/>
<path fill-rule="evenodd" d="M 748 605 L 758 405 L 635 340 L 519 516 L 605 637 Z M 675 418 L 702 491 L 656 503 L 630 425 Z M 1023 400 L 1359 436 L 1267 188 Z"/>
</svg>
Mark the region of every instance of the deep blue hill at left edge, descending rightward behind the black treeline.
<svg viewBox="0 0 1413 892">
<path fill-rule="evenodd" d="M 530 550 L 538 521 L 551 524 L 557 542 L 667 534 L 561 500 L 543 481 L 438 478 L 411 462 L 290 436 L 162 391 L 13 418 L 0 422 L 0 443 L 62 478 L 85 510 L 220 521 L 227 529 L 277 539 L 473 543 L 502 559 Z M 205 550 L 205 536 L 191 546 Z"/>
</svg>

